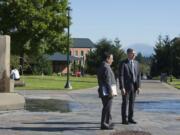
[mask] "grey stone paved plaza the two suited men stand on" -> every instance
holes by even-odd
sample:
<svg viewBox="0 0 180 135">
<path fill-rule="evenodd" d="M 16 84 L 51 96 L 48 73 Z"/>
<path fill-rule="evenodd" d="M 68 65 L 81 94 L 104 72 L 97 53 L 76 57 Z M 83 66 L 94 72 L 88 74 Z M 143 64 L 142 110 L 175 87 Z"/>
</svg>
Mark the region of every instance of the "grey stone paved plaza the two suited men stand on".
<svg viewBox="0 0 180 135">
<path fill-rule="evenodd" d="M 137 102 L 179 100 L 180 90 L 159 81 L 144 81 Z M 67 90 L 68 91 L 68 90 Z M 121 124 L 121 96 L 114 98 L 115 129 L 100 130 L 101 101 L 96 88 L 69 92 L 18 91 L 27 98 L 61 99 L 76 103 L 72 112 L 0 111 L 0 135 L 109 135 L 118 131 L 146 131 L 152 135 L 180 135 L 180 114 L 146 112 L 136 108 L 136 125 Z"/>
</svg>

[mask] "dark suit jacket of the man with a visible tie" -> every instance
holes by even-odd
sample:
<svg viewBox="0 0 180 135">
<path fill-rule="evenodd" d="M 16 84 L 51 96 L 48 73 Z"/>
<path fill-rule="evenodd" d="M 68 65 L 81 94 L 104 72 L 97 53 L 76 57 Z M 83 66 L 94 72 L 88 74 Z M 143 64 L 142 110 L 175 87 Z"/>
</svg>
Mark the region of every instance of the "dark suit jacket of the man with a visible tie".
<svg viewBox="0 0 180 135">
<path fill-rule="evenodd" d="M 135 88 L 141 87 L 141 73 L 139 63 L 134 60 L 136 83 L 133 83 L 133 74 L 131 65 L 128 59 L 123 60 L 119 65 L 119 88 L 125 89 L 127 92 Z"/>
</svg>

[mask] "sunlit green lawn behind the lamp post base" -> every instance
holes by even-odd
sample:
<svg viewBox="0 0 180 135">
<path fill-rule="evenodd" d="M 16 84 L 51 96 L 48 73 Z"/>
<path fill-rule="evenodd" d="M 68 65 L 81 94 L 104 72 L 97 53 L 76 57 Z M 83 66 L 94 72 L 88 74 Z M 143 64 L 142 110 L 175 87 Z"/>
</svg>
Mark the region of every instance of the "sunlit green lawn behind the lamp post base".
<svg viewBox="0 0 180 135">
<path fill-rule="evenodd" d="M 26 86 L 15 87 L 16 90 L 64 90 L 66 76 L 21 76 Z M 95 76 L 71 77 L 70 82 L 74 89 L 85 89 L 97 86 Z"/>
</svg>

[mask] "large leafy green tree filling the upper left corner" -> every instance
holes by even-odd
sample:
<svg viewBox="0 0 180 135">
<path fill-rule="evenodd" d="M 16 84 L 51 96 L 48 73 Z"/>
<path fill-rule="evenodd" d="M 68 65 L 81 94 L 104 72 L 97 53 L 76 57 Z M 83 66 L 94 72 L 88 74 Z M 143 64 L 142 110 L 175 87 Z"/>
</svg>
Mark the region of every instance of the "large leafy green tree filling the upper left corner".
<svg viewBox="0 0 180 135">
<path fill-rule="evenodd" d="M 23 60 L 24 54 L 63 52 L 67 6 L 68 0 L 1 0 L 0 34 L 11 36 L 12 54 Z"/>
</svg>

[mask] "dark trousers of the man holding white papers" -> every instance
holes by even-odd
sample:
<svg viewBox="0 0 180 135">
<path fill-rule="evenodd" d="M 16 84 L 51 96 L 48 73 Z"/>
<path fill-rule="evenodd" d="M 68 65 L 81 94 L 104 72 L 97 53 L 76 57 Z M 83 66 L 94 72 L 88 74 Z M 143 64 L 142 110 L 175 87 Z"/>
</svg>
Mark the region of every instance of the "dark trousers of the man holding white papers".
<svg viewBox="0 0 180 135">
<path fill-rule="evenodd" d="M 105 96 L 102 97 L 102 115 L 101 115 L 101 127 L 109 127 L 112 122 L 111 116 L 111 106 L 112 106 L 112 98 Z"/>
</svg>

